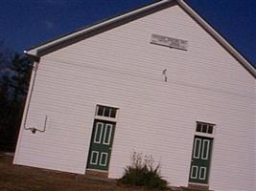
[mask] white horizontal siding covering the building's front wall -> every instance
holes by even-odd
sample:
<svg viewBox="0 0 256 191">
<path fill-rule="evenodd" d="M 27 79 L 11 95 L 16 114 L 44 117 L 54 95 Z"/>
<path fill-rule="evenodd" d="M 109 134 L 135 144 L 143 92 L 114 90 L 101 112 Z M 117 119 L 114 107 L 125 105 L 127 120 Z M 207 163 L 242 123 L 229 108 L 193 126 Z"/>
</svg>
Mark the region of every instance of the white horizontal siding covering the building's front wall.
<svg viewBox="0 0 256 191">
<path fill-rule="evenodd" d="M 188 40 L 188 51 L 151 45 L 151 33 Z M 120 108 L 110 178 L 136 151 L 187 185 L 199 120 L 217 124 L 210 188 L 256 189 L 255 80 L 179 7 L 43 56 L 27 124 L 49 123 L 21 129 L 14 163 L 83 174 L 96 104 Z"/>
</svg>

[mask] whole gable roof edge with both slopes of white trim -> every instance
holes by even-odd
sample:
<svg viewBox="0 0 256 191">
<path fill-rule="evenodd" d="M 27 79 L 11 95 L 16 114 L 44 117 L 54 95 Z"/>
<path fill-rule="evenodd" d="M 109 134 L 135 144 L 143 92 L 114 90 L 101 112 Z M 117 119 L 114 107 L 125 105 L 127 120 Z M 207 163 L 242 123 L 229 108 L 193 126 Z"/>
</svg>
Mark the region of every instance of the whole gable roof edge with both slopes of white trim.
<svg viewBox="0 0 256 191">
<path fill-rule="evenodd" d="M 128 11 L 122 15 L 104 20 L 102 22 L 96 23 L 94 25 L 82 28 L 76 32 L 71 32 L 62 35 L 54 40 L 43 43 L 39 46 L 33 47 L 24 53 L 39 59 L 40 56 L 47 53 L 52 53 L 61 49 L 63 47 L 69 46 L 76 42 L 79 42 L 85 38 L 91 37 L 101 32 L 108 31 L 120 25 L 124 25 L 135 19 L 144 17 L 155 11 L 160 11 L 174 5 L 178 5 L 183 11 L 187 12 L 197 23 L 208 32 L 221 46 L 230 53 L 234 58 L 236 58 L 254 78 L 256 78 L 255 68 L 244 58 L 244 56 L 239 53 L 235 48 L 233 48 L 230 43 L 228 43 L 219 32 L 215 31 L 206 21 L 204 21 L 196 11 L 194 11 L 188 4 L 183 0 L 160 0 L 140 9 L 134 11 Z"/>
</svg>

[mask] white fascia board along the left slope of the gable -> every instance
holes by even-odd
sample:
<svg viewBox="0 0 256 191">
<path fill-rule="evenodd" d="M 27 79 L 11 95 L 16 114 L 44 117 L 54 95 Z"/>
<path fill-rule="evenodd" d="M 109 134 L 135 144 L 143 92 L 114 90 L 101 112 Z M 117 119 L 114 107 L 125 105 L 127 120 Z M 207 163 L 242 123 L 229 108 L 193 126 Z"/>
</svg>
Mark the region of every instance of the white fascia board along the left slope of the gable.
<svg viewBox="0 0 256 191">
<path fill-rule="evenodd" d="M 173 2 L 174 0 L 162 0 L 162 1 L 159 1 L 159 2 L 156 2 L 154 4 L 151 4 L 149 6 L 146 6 L 144 8 L 141 8 L 139 10 L 135 10 L 135 11 L 130 11 L 128 13 L 125 13 L 123 15 L 120 15 L 120 16 L 117 16 L 117 17 L 114 17 L 112 19 L 109 19 L 109 20 L 106 20 L 105 22 L 102 22 L 102 23 L 99 23 L 98 25 L 95 25 L 95 26 L 92 26 L 92 27 L 88 27 L 84 30 L 81 30 L 79 32 L 73 32 L 71 34 L 68 34 L 68 35 L 65 35 L 63 37 L 60 37 L 56 40 L 53 40 L 49 43 L 46 43 L 42 46 L 39 46 L 39 47 L 36 47 L 35 49 L 31 49 L 29 51 L 24 51 L 24 53 L 26 54 L 30 54 L 30 55 L 35 55 L 37 56 L 37 53 L 40 51 L 40 50 L 44 50 L 44 49 L 47 49 L 48 47 L 52 47 L 54 45 L 57 45 L 58 43 L 61 43 L 61 42 L 64 42 L 64 41 L 67 41 L 69 39 L 72 39 L 76 36 L 79 36 L 83 33 L 86 33 L 86 32 L 90 32 L 90 31 L 94 31 L 94 30 L 97 30 L 97 29 L 100 29 L 100 28 L 103 28 L 105 27 L 106 25 L 108 24 L 111 24 L 111 23 L 114 23 L 114 22 L 117 22 L 117 21 L 120 21 L 124 18 L 127 18 L 129 16 L 132 16 L 133 14 L 136 14 L 136 13 L 140 13 L 140 12 L 143 12 L 143 11 L 148 11 L 148 10 L 151 10 L 152 8 L 154 7 L 157 7 L 157 6 L 161 6 L 163 4 L 166 4 L 168 2 Z"/>
</svg>

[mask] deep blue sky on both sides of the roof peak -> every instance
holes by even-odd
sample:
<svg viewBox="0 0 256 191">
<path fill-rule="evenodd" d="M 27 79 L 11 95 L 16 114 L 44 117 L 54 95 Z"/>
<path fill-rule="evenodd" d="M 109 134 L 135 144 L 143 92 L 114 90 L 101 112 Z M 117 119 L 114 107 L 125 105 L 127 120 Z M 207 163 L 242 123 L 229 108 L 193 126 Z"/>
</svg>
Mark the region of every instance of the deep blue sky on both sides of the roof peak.
<svg viewBox="0 0 256 191">
<path fill-rule="evenodd" d="M 24 50 L 153 0 L 0 0 L 0 40 Z M 256 66 L 256 0 L 186 0 Z"/>
</svg>

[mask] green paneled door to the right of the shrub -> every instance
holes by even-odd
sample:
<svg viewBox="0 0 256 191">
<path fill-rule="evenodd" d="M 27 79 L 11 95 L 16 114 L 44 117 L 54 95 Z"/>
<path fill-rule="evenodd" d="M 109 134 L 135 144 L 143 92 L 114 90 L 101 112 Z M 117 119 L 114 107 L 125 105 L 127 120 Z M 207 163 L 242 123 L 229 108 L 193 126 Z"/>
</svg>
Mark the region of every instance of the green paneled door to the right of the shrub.
<svg viewBox="0 0 256 191">
<path fill-rule="evenodd" d="M 189 182 L 208 184 L 213 138 L 195 136 Z"/>
</svg>

